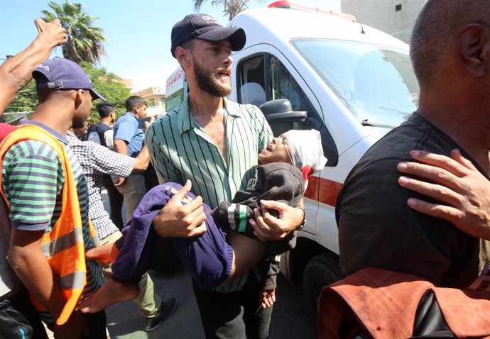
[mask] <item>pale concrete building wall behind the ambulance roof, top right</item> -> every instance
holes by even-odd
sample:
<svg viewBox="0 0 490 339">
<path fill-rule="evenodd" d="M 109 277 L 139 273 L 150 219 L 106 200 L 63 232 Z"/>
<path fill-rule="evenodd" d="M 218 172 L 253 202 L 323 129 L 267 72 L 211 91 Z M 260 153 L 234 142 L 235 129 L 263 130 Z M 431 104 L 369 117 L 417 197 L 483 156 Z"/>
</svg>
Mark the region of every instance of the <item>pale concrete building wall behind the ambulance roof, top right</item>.
<svg viewBox="0 0 490 339">
<path fill-rule="evenodd" d="M 357 21 L 410 42 L 415 19 L 426 0 L 342 0 L 342 12 Z M 353 6 L 354 5 L 354 6 Z M 396 6 L 401 10 L 396 11 Z"/>
</svg>

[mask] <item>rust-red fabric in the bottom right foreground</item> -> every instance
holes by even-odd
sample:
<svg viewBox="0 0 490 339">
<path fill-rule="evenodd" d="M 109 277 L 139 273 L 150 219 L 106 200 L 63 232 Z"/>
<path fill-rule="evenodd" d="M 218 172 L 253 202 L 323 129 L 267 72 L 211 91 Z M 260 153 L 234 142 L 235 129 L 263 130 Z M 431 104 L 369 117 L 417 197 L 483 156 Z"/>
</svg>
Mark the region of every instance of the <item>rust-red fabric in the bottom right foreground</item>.
<svg viewBox="0 0 490 339">
<path fill-rule="evenodd" d="M 342 333 L 342 328 L 352 328 L 352 315 L 376 339 L 408 338 L 428 289 L 457 338 L 490 335 L 490 293 L 435 287 L 411 274 L 367 268 L 322 290 L 319 338 L 352 338 L 355 333 Z"/>
</svg>

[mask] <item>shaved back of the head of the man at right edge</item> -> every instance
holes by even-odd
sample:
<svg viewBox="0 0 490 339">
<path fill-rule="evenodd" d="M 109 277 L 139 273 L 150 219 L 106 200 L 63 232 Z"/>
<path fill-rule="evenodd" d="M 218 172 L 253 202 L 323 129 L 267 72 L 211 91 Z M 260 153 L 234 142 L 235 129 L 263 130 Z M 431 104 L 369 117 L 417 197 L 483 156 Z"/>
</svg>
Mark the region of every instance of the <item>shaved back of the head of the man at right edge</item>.
<svg viewBox="0 0 490 339">
<path fill-rule="evenodd" d="M 415 22 L 410 59 L 420 86 L 443 72 L 454 38 L 465 26 L 490 28 L 490 0 L 428 0 Z"/>
</svg>

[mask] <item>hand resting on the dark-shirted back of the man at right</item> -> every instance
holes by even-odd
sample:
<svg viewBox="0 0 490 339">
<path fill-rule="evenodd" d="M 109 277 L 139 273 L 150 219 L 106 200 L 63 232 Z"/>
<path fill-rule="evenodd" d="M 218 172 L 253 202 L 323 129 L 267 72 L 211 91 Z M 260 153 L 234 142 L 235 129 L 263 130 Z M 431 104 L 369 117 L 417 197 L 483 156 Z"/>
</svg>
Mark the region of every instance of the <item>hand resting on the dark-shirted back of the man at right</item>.
<svg viewBox="0 0 490 339">
<path fill-rule="evenodd" d="M 398 171 L 425 181 L 400 177 L 401 187 L 440 201 L 431 204 L 410 198 L 408 206 L 420 213 L 450 221 L 476 238 L 490 240 L 490 182 L 459 150 L 451 157 L 423 151 L 412 151 L 419 162 L 401 162 Z"/>
</svg>

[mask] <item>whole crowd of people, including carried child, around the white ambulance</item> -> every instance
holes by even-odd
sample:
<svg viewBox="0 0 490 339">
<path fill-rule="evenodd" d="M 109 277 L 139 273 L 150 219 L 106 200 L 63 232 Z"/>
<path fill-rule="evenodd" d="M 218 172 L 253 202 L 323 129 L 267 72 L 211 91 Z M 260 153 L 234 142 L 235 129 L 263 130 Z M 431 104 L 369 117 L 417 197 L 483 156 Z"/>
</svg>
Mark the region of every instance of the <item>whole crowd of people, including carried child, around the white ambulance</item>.
<svg viewBox="0 0 490 339">
<path fill-rule="evenodd" d="M 490 335 L 487 2 L 428 0 L 418 16 L 418 109 L 338 196 L 346 278 L 322 291 L 321 338 Z M 31 79 L 38 94 L 31 118 L 0 124 L 0 337 L 48 338 L 43 321 L 55 338 L 106 338 L 104 309 L 129 299 L 155 330 L 178 302 L 147 271 L 177 255 L 206 338 L 268 338 L 276 255 L 294 247 L 308 177 L 326 162 L 320 133 L 274 138 L 260 109 L 227 99 L 242 28 L 202 13 L 175 23 L 190 91 L 143 127 L 143 98 L 116 119 L 80 66 L 48 59 L 65 43 L 59 21 L 35 22 L 33 43 L 0 66 L 0 111 Z M 94 100 L 100 121 L 87 128 Z"/>
</svg>

